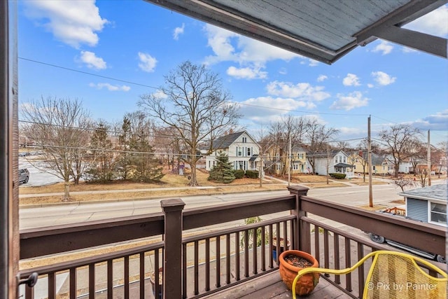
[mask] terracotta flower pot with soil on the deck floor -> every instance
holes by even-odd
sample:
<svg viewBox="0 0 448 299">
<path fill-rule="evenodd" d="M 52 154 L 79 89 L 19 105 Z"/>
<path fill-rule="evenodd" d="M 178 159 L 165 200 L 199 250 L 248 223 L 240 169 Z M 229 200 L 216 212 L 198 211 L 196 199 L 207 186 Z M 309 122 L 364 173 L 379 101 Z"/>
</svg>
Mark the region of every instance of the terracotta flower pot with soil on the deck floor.
<svg viewBox="0 0 448 299">
<path fill-rule="evenodd" d="M 293 281 L 295 277 L 297 276 L 297 272 L 303 269 L 303 267 L 295 267 L 294 265 L 290 265 L 286 262 L 285 257 L 293 255 L 293 256 L 299 256 L 301 258 L 304 258 L 309 261 L 309 263 L 312 264 L 311 267 L 318 267 L 319 263 L 314 258 L 314 256 L 311 256 L 309 253 L 306 253 L 304 251 L 298 251 L 298 250 L 286 250 L 283 251 L 283 253 L 279 256 L 279 270 L 280 270 L 280 276 L 283 280 L 283 283 L 288 286 L 289 289 L 291 289 L 291 286 L 293 285 Z M 318 273 L 309 273 L 305 274 L 304 276 L 300 277 L 300 279 L 297 281 L 297 284 L 295 285 L 295 293 L 297 295 L 307 295 L 311 293 L 311 291 L 314 290 L 314 287 L 318 284 L 319 281 L 319 274 Z"/>
</svg>

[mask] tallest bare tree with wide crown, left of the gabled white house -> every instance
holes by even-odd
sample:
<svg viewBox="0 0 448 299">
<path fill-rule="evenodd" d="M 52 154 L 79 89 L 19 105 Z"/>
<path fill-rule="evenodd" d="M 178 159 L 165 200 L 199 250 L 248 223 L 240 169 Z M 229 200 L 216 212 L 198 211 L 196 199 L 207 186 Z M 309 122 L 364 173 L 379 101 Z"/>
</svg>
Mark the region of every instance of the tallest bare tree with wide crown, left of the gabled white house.
<svg viewBox="0 0 448 299">
<path fill-rule="evenodd" d="M 213 140 L 218 134 L 237 125 L 241 117 L 237 106 L 230 104 L 230 94 L 223 90 L 218 74 L 204 65 L 183 62 L 165 76 L 160 88 L 164 97 L 142 95 L 139 106 L 160 123 L 176 128 L 177 137 L 188 153 L 183 160 L 191 167 L 190 186 L 197 186 L 196 163 L 200 159 L 201 141 Z"/>
</svg>

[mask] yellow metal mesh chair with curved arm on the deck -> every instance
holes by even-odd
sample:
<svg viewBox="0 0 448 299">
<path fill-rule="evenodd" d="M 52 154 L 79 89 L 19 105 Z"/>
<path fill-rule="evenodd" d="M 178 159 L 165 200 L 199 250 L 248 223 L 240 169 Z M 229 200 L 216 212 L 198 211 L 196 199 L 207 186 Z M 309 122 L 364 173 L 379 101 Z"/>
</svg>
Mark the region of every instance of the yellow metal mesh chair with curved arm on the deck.
<svg viewBox="0 0 448 299">
<path fill-rule="evenodd" d="M 363 298 L 389 299 L 447 299 L 448 275 L 439 267 L 428 261 L 406 253 L 379 250 L 367 254 L 352 267 L 334 270 L 307 267 L 300 270 L 293 281 L 292 291 L 295 299 L 295 284 L 304 274 L 311 272 L 328 274 L 347 274 L 356 270 L 368 258 L 373 258 L 372 265 L 365 279 Z M 432 277 L 419 265 L 425 265 L 442 277 Z M 361 284 L 362 282 L 359 281 Z"/>
</svg>

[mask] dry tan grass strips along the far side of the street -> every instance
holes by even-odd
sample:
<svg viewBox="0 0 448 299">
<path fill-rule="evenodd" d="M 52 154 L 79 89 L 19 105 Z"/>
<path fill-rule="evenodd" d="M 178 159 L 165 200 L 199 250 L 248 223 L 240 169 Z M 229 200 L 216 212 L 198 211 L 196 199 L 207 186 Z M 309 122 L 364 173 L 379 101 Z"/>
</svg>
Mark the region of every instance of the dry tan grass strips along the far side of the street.
<svg viewBox="0 0 448 299">
<path fill-rule="evenodd" d="M 188 174 L 180 176 L 179 174 L 172 174 L 168 169 L 165 169 L 165 176 L 160 182 L 155 183 L 134 183 L 130 181 L 113 181 L 111 183 L 85 183 L 80 182 L 75 185 L 70 185 L 70 200 L 69 202 L 88 202 L 101 200 L 136 200 L 136 199 L 151 199 L 161 197 L 179 197 L 179 195 L 212 195 L 221 193 L 240 193 L 249 191 L 262 190 L 285 190 L 285 185 L 278 181 L 269 180 L 263 181 L 262 188 L 260 188 L 259 179 L 236 179 L 232 183 L 222 184 L 207 181 L 209 174 L 202 169 L 197 170 L 197 181 L 200 186 L 215 187 L 215 188 L 187 188 Z M 269 179 L 269 176 L 267 176 Z M 283 177 L 283 180 L 288 178 Z M 311 174 L 293 174 L 291 176 L 291 183 L 300 183 L 309 188 L 328 188 L 345 186 L 345 183 L 363 183 L 363 179 L 351 180 L 330 180 L 327 184 L 325 176 L 316 176 Z M 384 183 L 374 181 L 374 183 Z M 182 190 L 144 190 L 155 188 L 172 188 L 185 187 Z M 88 194 L 80 194 L 78 192 L 89 192 Z M 102 192 L 103 191 L 103 192 Z M 111 192 L 115 191 L 115 192 Z M 62 195 L 48 195 L 42 196 L 44 193 L 63 193 L 64 183 L 55 183 L 49 186 L 27 187 L 22 185 L 19 188 L 20 195 L 39 195 L 32 197 L 20 197 L 19 204 L 21 206 L 29 204 L 55 204 L 62 202 Z"/>
</svg>

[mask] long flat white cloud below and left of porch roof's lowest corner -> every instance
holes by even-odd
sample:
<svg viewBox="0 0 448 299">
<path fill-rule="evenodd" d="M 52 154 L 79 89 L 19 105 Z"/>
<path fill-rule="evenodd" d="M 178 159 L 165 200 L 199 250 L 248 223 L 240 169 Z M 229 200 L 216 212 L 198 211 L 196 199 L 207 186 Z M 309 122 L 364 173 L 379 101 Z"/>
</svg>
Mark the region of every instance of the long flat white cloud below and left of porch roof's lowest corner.
<svg viewBox="0 0 448 299">
<path fill-rule="evenodd" d="M 273 81 L 266 88 L 269 95 L 300 98 L 306 101 L 320 102 L 330 97 L 328 92 L 323 91 L 323 86 L 311 86 L 309 83 L 297 83 L 294 85 L 288 82 Z"/>
</svg>

